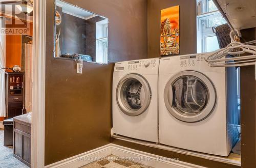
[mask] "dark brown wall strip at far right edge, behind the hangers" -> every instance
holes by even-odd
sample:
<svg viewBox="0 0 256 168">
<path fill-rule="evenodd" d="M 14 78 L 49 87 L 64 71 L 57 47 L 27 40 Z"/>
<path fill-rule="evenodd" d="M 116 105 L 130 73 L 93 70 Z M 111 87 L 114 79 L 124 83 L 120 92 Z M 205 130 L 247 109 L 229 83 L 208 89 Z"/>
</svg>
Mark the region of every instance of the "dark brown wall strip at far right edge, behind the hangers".
<svg viewBox="0 0 256 168">
<path fill-rule="evenodd" d="M 241 42 L 255 39 L 255 28 L 242 30 Z M 241 163 L 242 167 L 256 167 L 256 81 L 255 66 L 240 69 L 241 76 Z"/>
</svg>

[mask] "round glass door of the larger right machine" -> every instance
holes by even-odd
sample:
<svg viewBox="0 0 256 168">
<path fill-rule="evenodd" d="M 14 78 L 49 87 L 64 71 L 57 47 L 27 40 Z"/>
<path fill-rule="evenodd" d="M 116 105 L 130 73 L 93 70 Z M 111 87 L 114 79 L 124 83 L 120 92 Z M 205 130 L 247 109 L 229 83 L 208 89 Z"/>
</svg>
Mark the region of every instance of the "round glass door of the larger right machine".
<svg viewBox="0 0 256 168">
<path fill-rule="evenodd" d="M 216 92 L 212 82 L 196 71 L 183 71 L 167 82 L 164 102 L 169 112 L 184 122 L 197 122 L 210 115 Z"/>
</svg>

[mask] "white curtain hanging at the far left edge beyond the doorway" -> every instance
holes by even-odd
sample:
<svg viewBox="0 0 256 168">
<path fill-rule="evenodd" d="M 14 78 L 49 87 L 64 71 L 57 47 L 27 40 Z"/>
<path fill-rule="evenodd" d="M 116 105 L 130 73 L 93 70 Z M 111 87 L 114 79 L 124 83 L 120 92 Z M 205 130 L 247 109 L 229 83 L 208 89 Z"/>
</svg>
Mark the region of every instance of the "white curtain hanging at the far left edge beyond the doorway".
<svg viewBox="0 0 256 168">
<path fill-rule="evenodd" d="M 4 19 L 0 19 L 0 28 Z M 0 117 L 6 117 L 5 110 L 5 35 L 0 35 Z"/>
</svg>

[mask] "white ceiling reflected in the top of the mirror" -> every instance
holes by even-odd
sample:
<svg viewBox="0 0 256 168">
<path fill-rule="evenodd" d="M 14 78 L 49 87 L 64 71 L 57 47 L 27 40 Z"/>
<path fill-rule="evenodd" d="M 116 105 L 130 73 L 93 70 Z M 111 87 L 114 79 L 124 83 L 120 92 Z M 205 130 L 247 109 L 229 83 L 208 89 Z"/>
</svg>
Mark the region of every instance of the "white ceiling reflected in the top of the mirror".
<svg viewBox="0 0 256 168">
<path fill-rule="evenodd" d="M 56 5 L 62 8 L 63 13 L 68 13 L 68 14 L 71 14 L 73 16 L 76 16 L 76 17 L 79 17 L 79 18 L 82 18 L 82 19 L 87 20 L 89 18 L 97 16 L 94 13 L 88 12 L 88 11 L 82 9 L 82 8 L 79 8 L 79 7 L 76 7 L 74 5 L 65 3 L 63 1 L 57 0 Z"/>
</svg>

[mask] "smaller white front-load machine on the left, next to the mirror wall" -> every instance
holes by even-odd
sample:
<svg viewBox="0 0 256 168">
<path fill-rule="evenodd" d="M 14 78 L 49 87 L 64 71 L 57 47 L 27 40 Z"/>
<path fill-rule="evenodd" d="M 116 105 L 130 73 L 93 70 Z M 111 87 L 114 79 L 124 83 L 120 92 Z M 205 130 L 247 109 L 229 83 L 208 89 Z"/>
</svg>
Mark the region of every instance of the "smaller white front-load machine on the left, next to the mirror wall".
<svg viewBox="0 0 256 168">
<path fill-rule="evenodd" d="M 159 59 L 118 62 L 113 73 L 113 133 L 158 142 Z"/>
</svg>

